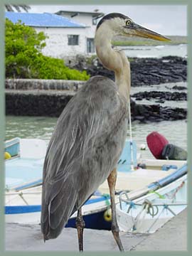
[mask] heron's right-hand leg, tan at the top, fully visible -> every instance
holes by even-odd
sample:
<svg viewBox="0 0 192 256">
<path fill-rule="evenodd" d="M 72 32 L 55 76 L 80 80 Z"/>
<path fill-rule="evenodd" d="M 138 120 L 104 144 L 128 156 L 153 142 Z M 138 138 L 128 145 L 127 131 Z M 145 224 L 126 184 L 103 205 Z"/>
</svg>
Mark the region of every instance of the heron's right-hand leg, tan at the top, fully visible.
<svg viewBox="0 0 192 256">
<path fill-rule="evenodd" d="M 114 201 L 114 188 L 117 179 L 117 169 L 115 168 L 111 173 L 110 176 L 107 178 L 108 185 L 110 188 L 110 198 L 111 198 L 111 208 L 112 208 L 112 234 L 114 236 L 114 240 L 117 242 L 120 251 L 124 251 L 122 242 L 119 238 L 119 227 L 117 225 L 117 218 L 116 218 L 116 208 L 115 208 L 115 201 Z"/>
</svg>

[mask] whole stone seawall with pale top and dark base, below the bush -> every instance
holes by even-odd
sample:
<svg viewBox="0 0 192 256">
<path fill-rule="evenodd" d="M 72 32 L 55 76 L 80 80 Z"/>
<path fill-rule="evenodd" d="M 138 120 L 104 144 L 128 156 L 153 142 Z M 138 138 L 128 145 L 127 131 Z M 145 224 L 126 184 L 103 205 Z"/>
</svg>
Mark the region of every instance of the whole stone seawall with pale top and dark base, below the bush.
<svg viewBox="0 0 192 256">
<path fill-rule="evenodd" d="M 58 117 L 84 84 L 77 80 L 6 79 L 6 114 Z"/>
</svg>

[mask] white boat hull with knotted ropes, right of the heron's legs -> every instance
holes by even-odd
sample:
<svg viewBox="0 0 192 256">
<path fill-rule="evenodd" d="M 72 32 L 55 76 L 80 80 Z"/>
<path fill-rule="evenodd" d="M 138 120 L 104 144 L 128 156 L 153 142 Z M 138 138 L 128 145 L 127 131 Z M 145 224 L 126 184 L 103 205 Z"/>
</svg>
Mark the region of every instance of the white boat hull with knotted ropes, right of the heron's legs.
<svg viewBox="0 0 192 256">
<path fill-rule="evenodd" d="M 155 193 L 127 203 L 117 203 L 119 230 L 134 233 L 154 233 L 186 207 L 187 176 L 159 188 Z M 175 197 L 170 199 L 175 194 Z M 161 197 L 161 198 L 159 198 Z M 146 204 L 144 204 L 146 202 Z M 149 206 L 152 207 L 149 207 Z"/>
</svg>

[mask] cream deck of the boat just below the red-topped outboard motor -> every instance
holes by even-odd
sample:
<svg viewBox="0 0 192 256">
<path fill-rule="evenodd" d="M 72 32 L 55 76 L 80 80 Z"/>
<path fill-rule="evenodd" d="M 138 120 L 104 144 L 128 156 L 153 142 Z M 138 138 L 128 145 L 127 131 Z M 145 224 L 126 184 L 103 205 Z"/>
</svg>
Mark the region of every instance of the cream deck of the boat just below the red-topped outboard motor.
<svg viewBox="0 0 192 256">
<path fill-rule="evenodd" d="M 129 164 L 119 164 L 115 189 L 121 191 L 137 191 L 148 186 L 154 181 L 165 178 L 174 173 L 177 169 L 186 164 L 185 160 L 158 160 L 158 159 L 137 159 L 137 166 L 145 166 L 145 169 L 134 167 L 132 170 Z M 110 193 L 108 183 L 105 181 L 100 186 L 102 193 Z"/>
</svg>

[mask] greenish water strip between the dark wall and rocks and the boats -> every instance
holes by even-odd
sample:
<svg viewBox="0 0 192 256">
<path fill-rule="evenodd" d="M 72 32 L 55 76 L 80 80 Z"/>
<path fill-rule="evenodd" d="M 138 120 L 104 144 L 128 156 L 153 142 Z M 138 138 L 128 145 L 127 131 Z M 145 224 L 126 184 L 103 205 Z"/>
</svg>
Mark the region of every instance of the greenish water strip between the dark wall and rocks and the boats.
<svg viewBox="0 0 192 256">
<path fill-rule="evenodd" d="M 57 118 L 55 117 L 6 117 L 6 139 L 14 137 L 44 139 L 49 142 Z M 187 122 L 186 120 L 149 122 L 142 124 L 132 122 L 132 138 L 137 143 L 137 150 L 140 145 L 146 145 L 146 136 L 151 132 L 163 134 L 169 143 L 187 149 Z M 127 138 L 129 139 L 129 129 Z M 140 151 L 142 157 L 153 159 L 147 145 L 145 151 Z"/>
</svg>

